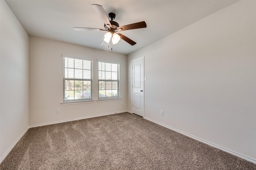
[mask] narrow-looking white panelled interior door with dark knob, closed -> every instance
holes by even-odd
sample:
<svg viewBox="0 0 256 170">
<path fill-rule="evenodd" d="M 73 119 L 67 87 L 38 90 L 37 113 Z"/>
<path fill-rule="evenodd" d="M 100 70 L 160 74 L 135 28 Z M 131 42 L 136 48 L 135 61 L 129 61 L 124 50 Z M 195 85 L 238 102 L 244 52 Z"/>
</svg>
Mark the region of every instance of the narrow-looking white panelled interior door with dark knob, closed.
<svg viewBox="0 0 256 170">
<path fill-rule="evenodd" d="M 144 117 L 144 58 L 132 61 L 132 113 Z"/>
</svg>

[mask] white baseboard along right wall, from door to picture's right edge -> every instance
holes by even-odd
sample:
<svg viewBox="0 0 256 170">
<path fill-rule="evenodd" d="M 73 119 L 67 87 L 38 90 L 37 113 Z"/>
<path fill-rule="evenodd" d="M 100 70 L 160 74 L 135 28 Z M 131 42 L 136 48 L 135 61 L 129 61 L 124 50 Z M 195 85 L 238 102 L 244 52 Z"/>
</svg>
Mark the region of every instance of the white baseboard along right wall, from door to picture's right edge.
<svg viewBox="0 0 256 170">
<path fill-rule="evenodd" d="M 147 117 L 143 117 L 143 118 L 144 118 L 144 119 L 147 119 L 147 120 L 149 120 L 149 121 L 152 121 L 152 122 L 154 122 L 154 123 L 156 123 L 156 124 L 158 124 L 158 125 L 161 125 L 161 126 L 163 126 L 163 127 L 166 127 L 166 128 L 168 128 L 168 129 L 171 129 L 171 130 L 173 130 L 173 131 L 176 131 L 176 132 L 178 132 L 178 133 L 181 133 L 182 135 L 185 135 L 185 136 L 187 136 L 187 137 L 190 137 L 190 138 L 192 138 L 192 139 L 195 139 L 195 140 L 197 140 L 197 141 L 200 141 L 200 142 L 202 142 L 202 143 L 205 143 L 205 144 L 207 144 L 207 145 L 210 145 L 210 146 L 212 146 L 212 147 L 214 147 L 214 148 L 223 150 L 224 152 L 228 152 L 228 153 L 230 153 L 230 154 L 232 154 L 232 155 L 238 156 L 238 157 L 240 157 L 240 158 L 242 158 L 242 159 L 248 160 L 248 161 L 250 161 L 250 162 L 256 164 L 256 159 L 254 159 L 254 158 L 250 158 L 250 157 L 248 157 L 248 156 L 245 156 L 245 155 L 240 154 L 240 153 L 238 153 L 238 152 L 235 152 L 235 151 L 233 151 L 233 150 L 226 149 L 226 148 L 221 147 L 221 146 L 219 146 L 219 145 L 216 145 L 216 144 L 214 144 L 214 143 L 205 141 L 204 139 L 200 139 L 200 138 L 198 138 L 198 137 L 195 137 L 195 136 L 193 136 L 193 135 L 190 135 L 190 134 L 188 134 L 188 133 L 185 133 L 185 132 L 180 131 L 180 130 L 178 130 L 178 129 L 175 129 L 175 128 L 173 128 L 173 127 L 164 125 L 164 124 L 162 124 L 162 123 L 159 123 L 159 122 L 154 121 L 154 120 L 152 120 L 152 119 L 149 119 L 149 118 L 147 118 Z"/>
</svg>

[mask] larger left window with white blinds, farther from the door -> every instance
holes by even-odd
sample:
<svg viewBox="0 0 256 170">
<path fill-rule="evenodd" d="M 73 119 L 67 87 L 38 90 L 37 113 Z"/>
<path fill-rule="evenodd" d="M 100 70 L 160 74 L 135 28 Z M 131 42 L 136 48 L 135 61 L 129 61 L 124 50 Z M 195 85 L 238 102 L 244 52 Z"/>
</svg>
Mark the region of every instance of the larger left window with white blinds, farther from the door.
<svg viewBox="0 0 256 170">
<path fill-rule="evenodd" d="M 92 61 L 63 55 L 63 102 L 92 100 Z"/>
</svg>

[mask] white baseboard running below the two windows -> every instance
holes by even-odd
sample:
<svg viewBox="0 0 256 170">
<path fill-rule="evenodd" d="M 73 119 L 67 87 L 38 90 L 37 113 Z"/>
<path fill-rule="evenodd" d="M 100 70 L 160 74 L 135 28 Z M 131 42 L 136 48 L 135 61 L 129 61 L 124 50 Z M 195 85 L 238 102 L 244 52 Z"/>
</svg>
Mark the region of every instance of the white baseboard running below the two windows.
<svg viewBox="0 0 256 170">
<path fill-rule="evenodd" d="M 112 113 L 104 113 L 104 114 L 100 114 L 100 115 L 79 117 L 79 118 L 74 118 L 74 119 L 66 119 L 66 120 L 62 120 L 62 121 L 53 121 L 53 122 L 50 122 L 50 123 L 41 123 L 41 124 L 37 124 L 37 125 L 30 125 L 29 128 L 52 125 L 52 124 L 57 124 L 57 123 L 64 123 L 64 122 L 68 122 L 68 121 L 76 121 L 76 120 L 81 120 L 81 119 L 89 119 L 89 118 L 92 118 L 92 117 L 106 116 L 106 115 L 112 115 L 112 114 L 124 113 L 124 112 L 128 112 L 128 111 L 125 110 L 125 111 L 118 111 L 118 112 L 112 112 Z"/>
</svg>

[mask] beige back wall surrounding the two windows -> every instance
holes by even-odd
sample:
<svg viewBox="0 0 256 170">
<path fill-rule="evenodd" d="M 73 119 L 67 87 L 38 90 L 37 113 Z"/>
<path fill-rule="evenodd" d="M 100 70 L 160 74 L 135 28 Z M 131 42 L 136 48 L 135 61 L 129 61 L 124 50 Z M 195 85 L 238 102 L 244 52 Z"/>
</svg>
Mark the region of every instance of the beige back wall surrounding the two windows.
<svg viewBox="0 0 256 170">
<path fill-rule="evenodd" d="M 30 37 L 29 43 L 29 124 L 38 125 L 80 117 L 90 117 L 127 110 L 127 56 L 78 45 Z M 63 58 L 62 54 L 93 59 L 93 103 L 62 106 Z M 120 63 L 121 100 L 97 102 L 97 60 Z M 123 102 L 123 106 L 121 105 Z M 56 113 L 60 109 L 60 114 Z"/>
</svg>

